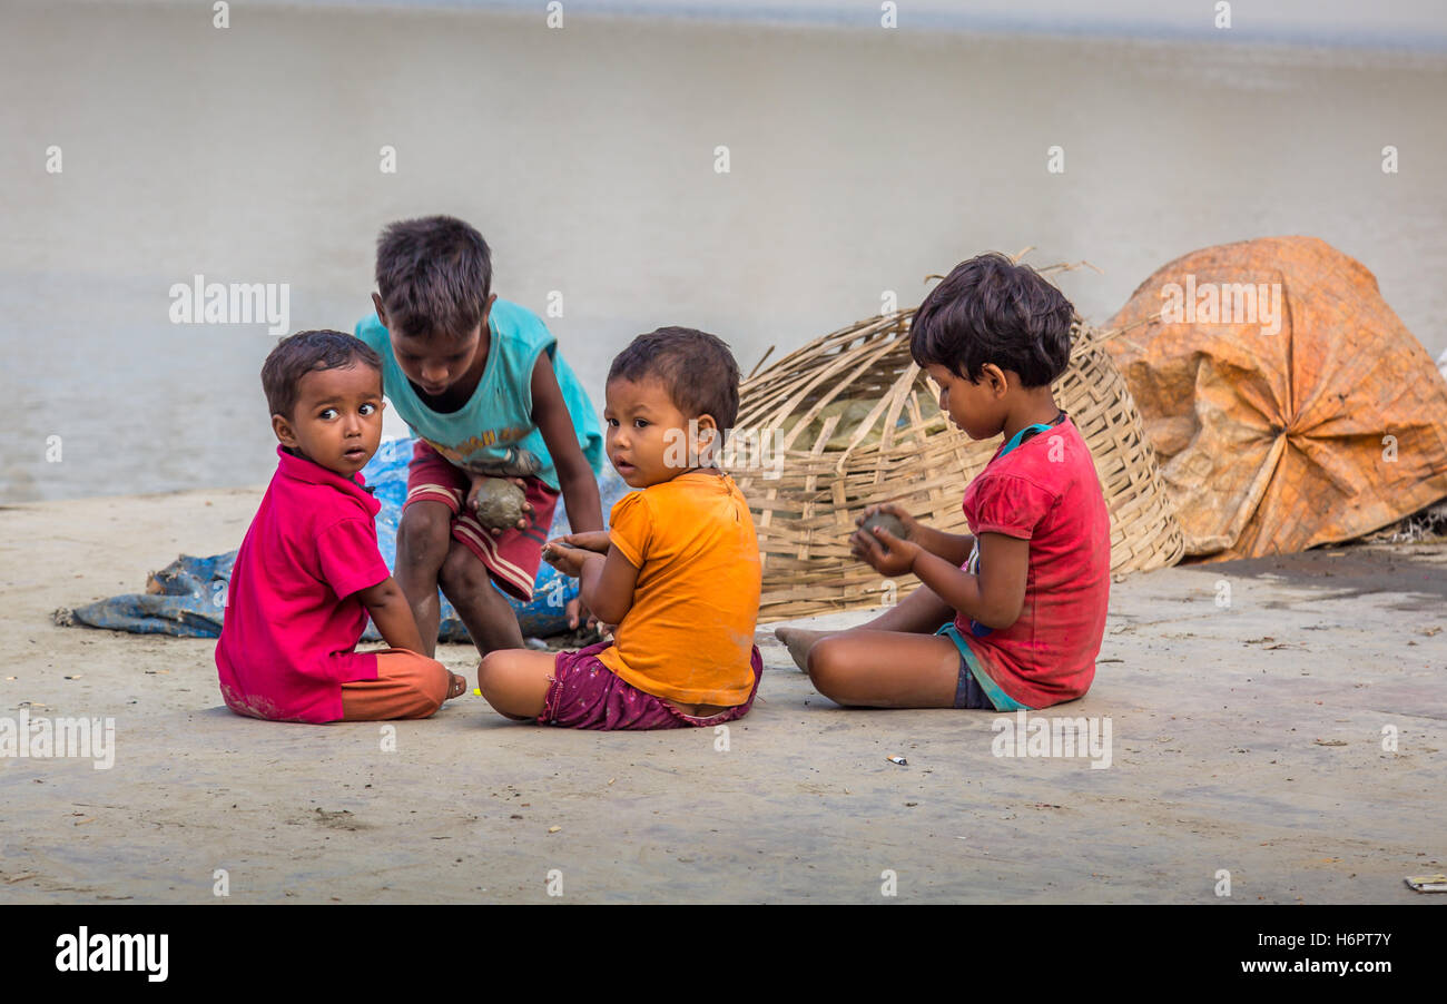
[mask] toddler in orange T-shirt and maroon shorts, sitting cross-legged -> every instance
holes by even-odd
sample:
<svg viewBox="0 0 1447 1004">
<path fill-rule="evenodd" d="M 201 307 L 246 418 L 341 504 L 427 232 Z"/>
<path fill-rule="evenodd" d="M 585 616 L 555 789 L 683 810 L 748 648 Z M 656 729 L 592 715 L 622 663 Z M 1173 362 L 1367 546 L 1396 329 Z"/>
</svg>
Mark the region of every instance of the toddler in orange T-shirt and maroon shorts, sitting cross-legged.
<svg viewBox="0 0 1447 1004">
<path fill-rule="evenodd" d="M 608 459 L 631 492 L 609 529 L 550 541 L 616 625 L 577 652 L 498 650 L 478 687 L 499 713 L 573 729 L 676 729 L 748 713 L 764 664 L 754 645 L 761 573 L 744 495 L 718 467 L 738 415 L 738 363 L 692 328 L 634 339 L 608 372 Z"/>
</svg>

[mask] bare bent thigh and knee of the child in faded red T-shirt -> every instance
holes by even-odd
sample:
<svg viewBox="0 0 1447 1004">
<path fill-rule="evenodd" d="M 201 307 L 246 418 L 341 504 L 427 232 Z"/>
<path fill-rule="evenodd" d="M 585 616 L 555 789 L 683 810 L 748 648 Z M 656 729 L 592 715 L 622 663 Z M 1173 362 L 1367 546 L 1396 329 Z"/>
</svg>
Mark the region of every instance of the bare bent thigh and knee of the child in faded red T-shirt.
<svg viewBox="0 0 1447 1004">
<path fill-rule="evenodd" d="M 809 678 L 846 707 L 954 707 L 959 650 L 942 635 L 855 628 L 815 642 Z"/>
</svg>

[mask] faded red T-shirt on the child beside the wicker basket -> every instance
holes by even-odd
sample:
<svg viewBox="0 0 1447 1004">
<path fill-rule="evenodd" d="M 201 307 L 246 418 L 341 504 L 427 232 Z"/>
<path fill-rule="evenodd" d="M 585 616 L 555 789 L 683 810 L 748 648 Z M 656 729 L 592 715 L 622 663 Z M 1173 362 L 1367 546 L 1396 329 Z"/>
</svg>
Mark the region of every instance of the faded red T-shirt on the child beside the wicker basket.
<svg viewBox="0 0 1447 1004">
<path fill-rule="evenodd" d="M 1020 705 L 1039 709 L 1082 696 L 1106 634 L 1110 512 L 1075 422 L 1066 417 L 1004 456 L 997 450 L 969 482 L 962 506 L 975 537 L 1030 541 L 1030 570 L 1014 624 L 980 637 L 959 615 L 955 628 Z"/>
</svg>

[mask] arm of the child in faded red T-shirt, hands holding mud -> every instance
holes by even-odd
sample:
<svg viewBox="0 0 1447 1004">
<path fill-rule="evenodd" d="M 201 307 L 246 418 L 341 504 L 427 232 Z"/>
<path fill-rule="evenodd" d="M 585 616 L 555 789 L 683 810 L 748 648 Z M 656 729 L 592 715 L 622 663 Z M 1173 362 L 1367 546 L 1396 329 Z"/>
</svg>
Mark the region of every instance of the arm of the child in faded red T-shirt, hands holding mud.
<svg viewBox="0 0 1447 1004">
<path fill-rule="evenodd" d="M 1030 571 L 1030 541 L 1004 534 L 980 534 L 980 574 L 961 571 L 946 558 L 881 527 L 855 534 L 860 556 L 886 576 L 913 573 L 942 600 L 987 628 L 1009 628 L 1024 606 Z M 886 550 L 888 548 L 888 550 Z"/>
</svg>

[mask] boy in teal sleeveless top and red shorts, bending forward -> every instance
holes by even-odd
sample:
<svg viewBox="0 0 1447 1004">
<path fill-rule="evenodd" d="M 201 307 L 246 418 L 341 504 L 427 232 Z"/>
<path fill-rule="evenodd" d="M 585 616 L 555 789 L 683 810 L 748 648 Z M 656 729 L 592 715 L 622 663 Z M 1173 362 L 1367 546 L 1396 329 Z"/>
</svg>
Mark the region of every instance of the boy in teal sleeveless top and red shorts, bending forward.
<svg viewBox="0 0 1447 1004">
<path fill-rule="evenodd" d="M 376 314 L 356 336 L 382 357 L 383 392 L 417 437 L 395 579 L 428 655 L 438 587 L 483 655 L 521 648 L 501 593 L 532 597 L 559 493 L 574 532 L 603 528 L 598 415 L 543 321 L 492 292 L 488 244 L 462 220 L 389 224 L 378 239 L 376 285 Z M 522 488 L 515 527 L 478 519 L 473 496 L 486 476 Z M 583 613 L 574 600 L 570 624 Z"/>
</svg>

